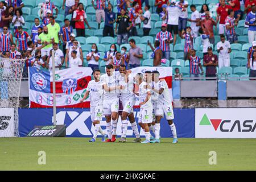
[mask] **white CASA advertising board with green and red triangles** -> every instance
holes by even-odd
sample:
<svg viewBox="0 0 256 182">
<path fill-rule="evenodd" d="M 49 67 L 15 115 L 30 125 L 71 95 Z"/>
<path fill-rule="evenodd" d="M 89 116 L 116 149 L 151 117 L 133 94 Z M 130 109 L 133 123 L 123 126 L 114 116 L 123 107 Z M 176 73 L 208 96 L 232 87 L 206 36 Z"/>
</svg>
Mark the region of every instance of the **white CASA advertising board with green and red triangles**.
<svg viewBox="0 0 256 182">
<path fill-rule="evenodd" d="M 256 108 L 196 109 L 196 138 L 256 138 Z"/>
</svg>

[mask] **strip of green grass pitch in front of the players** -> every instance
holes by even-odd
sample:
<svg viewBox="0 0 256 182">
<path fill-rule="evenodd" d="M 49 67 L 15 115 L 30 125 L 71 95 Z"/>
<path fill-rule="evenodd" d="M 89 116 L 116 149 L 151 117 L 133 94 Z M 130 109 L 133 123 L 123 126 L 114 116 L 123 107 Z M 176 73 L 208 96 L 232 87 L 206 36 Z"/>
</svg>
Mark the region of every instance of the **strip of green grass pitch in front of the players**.
<svg viewBox="0 0 256 182">
<path fill-rule="evenodd" d="M 160 144 L 88 138 L 0 138 L 0 170 L 255 170 L 256 139 L 171 138 Z M 46 152 L 46 165 L 38 152 Z M 217 165 L 209 165 L 209 151 Z"/>
</svg>

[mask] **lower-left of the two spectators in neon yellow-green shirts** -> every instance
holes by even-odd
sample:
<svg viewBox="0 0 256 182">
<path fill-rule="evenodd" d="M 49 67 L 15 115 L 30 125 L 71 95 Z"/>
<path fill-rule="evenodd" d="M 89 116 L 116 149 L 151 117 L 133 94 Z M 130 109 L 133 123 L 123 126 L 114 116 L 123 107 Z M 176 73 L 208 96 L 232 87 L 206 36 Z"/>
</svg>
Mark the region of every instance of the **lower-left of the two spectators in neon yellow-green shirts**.
<svg viewBox="0 0 256 182">
<path fill-rule="evenodd" d="M 49 56 L 49 51 L 52 49 L 52 40 L 48 28 L 44 26 L 43 32 L 38 36 L 38 43 L 44 45 L 44 48 L 41 49 L 41 56 L 44 61 L 46 61 L 46 57 Z"/>
</svg>

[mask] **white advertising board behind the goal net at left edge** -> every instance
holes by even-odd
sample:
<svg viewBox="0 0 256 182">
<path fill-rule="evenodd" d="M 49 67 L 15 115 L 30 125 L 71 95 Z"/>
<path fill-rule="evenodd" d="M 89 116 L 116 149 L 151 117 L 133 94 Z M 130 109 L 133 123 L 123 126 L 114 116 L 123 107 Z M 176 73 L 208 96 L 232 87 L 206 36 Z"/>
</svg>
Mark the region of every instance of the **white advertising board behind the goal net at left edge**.
<svg viewBox="0 0 256 182">
<path fill-rule="evenodd" d="M 14 108 L 0 109 L 0 137 L 14 137 Z"/>
</svg>

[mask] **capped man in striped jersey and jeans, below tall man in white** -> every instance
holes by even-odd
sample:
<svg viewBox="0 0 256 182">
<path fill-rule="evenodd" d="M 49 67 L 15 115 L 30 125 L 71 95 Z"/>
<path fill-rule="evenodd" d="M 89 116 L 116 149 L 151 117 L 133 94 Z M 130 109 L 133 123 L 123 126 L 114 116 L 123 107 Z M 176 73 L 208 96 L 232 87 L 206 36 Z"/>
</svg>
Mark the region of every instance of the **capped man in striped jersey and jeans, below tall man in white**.
<svg viewBox="0 0 256 182">
<path fill-rule="evenodd" d="M 162 31 L 156 34 L 155 40 L 160 42 L 160 49 L 163 51 L 163 57 L 165 59 L 170 59 L 171 49 L 170 43 L 172 43 L 172 34 L 167 31 L 167 24 L 162 24 Z"/>
</svg>

